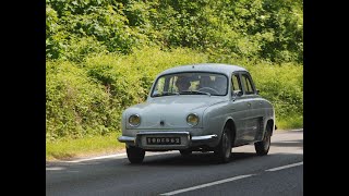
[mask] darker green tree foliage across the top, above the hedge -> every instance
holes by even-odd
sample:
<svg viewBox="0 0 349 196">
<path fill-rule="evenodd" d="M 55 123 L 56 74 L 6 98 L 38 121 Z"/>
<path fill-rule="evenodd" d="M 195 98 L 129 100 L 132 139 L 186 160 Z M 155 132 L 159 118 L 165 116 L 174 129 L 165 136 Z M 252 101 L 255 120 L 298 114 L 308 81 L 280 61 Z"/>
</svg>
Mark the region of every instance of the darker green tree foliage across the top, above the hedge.
<svg viewBox="0 0 349 196">
<path fill-rule="evenodd" d="M 79 61 L 159 46 L 302 63 L 302 7 L 299 0 L 47 0 L 47 58 Z"/>
</svg>

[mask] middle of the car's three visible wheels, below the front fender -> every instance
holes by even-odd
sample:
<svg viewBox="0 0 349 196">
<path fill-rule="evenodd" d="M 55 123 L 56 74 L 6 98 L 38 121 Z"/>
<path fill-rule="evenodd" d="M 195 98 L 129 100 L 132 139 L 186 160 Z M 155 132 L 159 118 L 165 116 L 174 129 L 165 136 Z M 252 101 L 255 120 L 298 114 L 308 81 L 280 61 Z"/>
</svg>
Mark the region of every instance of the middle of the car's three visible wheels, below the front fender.
<svg viewBox="0 0 349 196">
<path fill-rule="evenodd" d="M 226 126 L 221 134 L 219 145 L 215 150 L 215 155 L 219 163 L 227 163 L 230 161 L 232 146 L 231 143 L 230 130 Z"/>
</svg>

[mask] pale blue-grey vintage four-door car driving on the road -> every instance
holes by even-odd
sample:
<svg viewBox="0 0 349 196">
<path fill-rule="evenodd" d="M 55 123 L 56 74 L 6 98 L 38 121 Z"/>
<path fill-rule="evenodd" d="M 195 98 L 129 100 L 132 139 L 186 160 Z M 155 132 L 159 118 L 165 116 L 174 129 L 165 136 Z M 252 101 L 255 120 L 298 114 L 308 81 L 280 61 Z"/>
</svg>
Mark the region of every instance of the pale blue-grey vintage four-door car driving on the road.
<svg viewBox="0 0 349 196">
<path fill-rule="evenodd" d="M 145 151 L 214 151 L 229 162 L 231 148 L 254 144 L 267 155 L 275 111 L 258 95 L 250 73 L 237 65 L 202 63 L 157 75 L 147 100 L 123 111 L 122 135 L 131 163 Z"/>
</svg>

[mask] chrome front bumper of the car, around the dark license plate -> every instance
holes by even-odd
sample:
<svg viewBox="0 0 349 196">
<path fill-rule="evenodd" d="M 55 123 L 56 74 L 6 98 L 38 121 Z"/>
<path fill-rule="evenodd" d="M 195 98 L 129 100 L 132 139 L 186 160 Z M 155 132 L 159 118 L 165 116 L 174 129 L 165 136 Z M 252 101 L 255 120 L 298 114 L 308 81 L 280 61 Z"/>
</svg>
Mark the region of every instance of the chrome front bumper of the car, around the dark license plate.
<svg viewBox="0 0 349 196">
<path fill-rule="evenodd" d="M 180 144 L 148 144 L 149 138 L 180 138 Z M 195 147 L 200 145 L 207 145 L 210 142 L 218 139 L 216 134 L 213 135 L 201 135 L 192 136 L 189 132 L 140 132 L 136 133 L 135 137 L 131 136 L 120 136 L 118 140 L 120 143 L 127 143 L 131 146 L 136 146 L 143 149 L 164 149 L 164 150 L 176 150 L 176 149 L 186 149 L 190 147 Z"/>
</svg>

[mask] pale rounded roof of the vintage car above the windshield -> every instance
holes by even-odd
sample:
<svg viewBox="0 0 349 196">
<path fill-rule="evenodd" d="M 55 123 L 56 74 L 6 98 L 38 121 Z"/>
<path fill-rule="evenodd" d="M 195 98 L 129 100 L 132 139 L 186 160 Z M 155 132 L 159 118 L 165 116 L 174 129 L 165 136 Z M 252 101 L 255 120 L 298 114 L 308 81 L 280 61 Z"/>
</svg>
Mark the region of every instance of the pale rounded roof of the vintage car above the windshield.
<svg viewBox="0 0 349 196">
<path fill-rule="evenodd" d="M 232 64 L 196 63 L 196 64 L 174 66 L 174 68 L 165 70 L 159 75 L 178 73 L 178 72 L 215 72 L 215 73 L 224 73 L 226 75 L 230 75 L 234 71 L 246 71 L 246 70 L 244 68 L 232 65 Z"/>
</svg>

